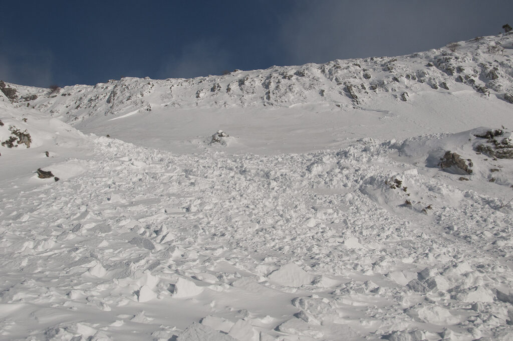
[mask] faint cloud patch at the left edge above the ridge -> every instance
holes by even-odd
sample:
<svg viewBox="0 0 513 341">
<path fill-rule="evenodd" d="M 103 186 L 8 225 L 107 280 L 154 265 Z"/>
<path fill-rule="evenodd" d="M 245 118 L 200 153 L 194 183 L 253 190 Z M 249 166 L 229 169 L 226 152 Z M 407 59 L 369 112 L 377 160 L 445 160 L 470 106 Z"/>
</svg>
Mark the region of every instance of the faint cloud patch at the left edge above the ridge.
<svg viewBox="0 0 513 341">
<path fill-rule="evenodd" d="M 0 51 L 0 79 L 9 83 L 48 87 L 52 82 L 53 54 L 7 46 Z"/>
</svg>

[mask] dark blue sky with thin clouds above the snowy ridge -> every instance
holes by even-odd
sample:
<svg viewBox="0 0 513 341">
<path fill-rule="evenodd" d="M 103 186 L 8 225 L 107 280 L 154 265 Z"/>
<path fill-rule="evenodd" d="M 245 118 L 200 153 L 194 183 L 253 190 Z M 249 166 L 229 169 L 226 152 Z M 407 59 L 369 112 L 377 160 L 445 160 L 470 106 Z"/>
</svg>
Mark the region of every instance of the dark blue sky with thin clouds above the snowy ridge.
<svg viewBox="0 0 513 341">
<path fill-rule="evenodd" d="M 506 23 L 511 0 L 0 0 L 0 79 L 48 87 L 392 56 Z"/>
</svg>

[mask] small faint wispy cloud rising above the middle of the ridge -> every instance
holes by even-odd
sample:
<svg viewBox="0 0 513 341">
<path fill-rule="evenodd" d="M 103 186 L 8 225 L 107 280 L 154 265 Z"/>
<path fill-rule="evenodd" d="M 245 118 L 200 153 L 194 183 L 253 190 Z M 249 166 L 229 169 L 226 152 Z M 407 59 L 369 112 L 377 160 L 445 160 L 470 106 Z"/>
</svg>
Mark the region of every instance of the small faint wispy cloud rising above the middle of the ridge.
<svg viewBox="0 0 513 341">
<path fill-rule="evenodd" d="M 192 78 L 221 74 L 230 65 L 230 54 L 218 40 L 201 39 L 185 45 L 163 63 L 162 78 Z"/>
</svg>

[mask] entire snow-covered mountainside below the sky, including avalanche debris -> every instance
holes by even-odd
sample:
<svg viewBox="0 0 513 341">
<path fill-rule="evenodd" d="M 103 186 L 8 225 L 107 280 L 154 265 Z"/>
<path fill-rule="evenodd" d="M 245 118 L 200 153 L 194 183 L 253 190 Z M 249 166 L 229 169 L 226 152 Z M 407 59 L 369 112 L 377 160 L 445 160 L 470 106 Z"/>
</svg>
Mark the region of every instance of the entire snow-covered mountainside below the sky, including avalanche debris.
<svg viewBox="0 0 513 341">
<path fill-rule="evenodd" d="M 513 339 L 512 50 L 4 83 L 0 339 Z"/>
</svg>

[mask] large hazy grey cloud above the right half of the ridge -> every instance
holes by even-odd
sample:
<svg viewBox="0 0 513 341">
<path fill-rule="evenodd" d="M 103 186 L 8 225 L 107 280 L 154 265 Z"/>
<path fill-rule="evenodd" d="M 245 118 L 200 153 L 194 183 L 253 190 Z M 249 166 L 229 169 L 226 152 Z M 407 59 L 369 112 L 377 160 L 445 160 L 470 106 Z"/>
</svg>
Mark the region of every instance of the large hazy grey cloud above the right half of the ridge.
<svg viewBox="0 0 513 341">
<path fill-rule="evenodd" d="M 497 34 L 506 20 L 497 8 L 512 7 L 499 3 L 297 0 L 278 32 L 280 53 L 287 64 L 303 64 L 438 48 Z"/>
</svg>

